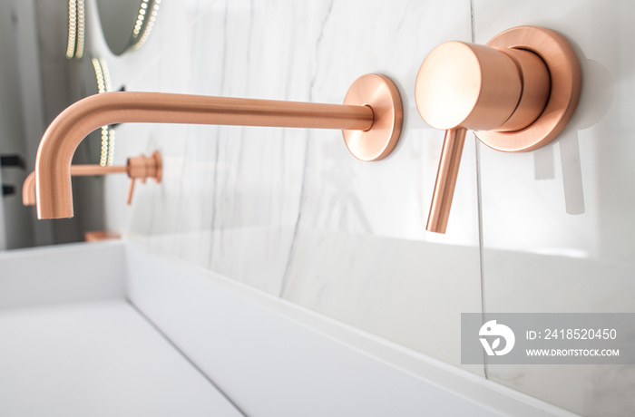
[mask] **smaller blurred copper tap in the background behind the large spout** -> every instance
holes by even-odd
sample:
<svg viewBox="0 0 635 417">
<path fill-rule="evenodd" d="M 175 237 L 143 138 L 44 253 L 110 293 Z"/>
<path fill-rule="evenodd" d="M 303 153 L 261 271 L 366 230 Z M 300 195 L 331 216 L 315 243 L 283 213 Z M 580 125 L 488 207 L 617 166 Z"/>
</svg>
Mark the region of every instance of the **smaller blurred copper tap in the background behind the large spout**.
<svg viewBox="0 0 635 417">
<path fill-rule="evenodd" d="M 72 177 L 88 177 L 96 175 L 108 175 L 126 173 L 130 178 L 130 187 L 126 204 L 132 204 L 132 193 L 134 192 L 134 184 L 137 179 L 145 182 L 147 179 L 154 180 L 155 183 L 161 182 L 162 163 L 161 153 L 152 152 L 151 156 L 139 155 L 138 157 L 128 158 L 125 165 L 71 165 Z M 35 171 L 31 172 L 22 187 L 22 203 L 24 206 L 33 206 L 36 203 L 35 193 Z"/>
</svg>

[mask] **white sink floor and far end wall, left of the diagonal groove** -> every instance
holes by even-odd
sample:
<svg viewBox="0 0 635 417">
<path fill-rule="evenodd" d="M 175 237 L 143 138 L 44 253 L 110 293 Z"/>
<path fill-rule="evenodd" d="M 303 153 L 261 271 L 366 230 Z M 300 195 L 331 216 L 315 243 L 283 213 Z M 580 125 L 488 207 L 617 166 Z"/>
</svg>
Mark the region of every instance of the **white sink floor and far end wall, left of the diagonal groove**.
<svg viewBox="0 0 635 417">
<path fill-rule="evenodd" d="M 0 415 L 242 415 L 126 301 L 123 254 L 0 257 Z"/>
</svg>

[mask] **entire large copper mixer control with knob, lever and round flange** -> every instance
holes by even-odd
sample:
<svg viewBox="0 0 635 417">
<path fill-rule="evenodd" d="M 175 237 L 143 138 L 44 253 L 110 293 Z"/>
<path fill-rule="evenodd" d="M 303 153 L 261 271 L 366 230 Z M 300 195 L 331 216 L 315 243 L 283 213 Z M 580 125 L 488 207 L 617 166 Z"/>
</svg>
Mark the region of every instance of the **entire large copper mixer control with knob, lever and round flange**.
<svg viewBox="0 0 635 417">
<path fill-rule="evenodd" d="M 447 42 L 429 53 L 415 102 L 446 133 L 426 229 L 445 233 L 467 129 L 495 150 L 538 149 L 571 119 L 580 86 L 571 45 L 540 27 L 510 29 L 487 45 Z"/>
</svg>

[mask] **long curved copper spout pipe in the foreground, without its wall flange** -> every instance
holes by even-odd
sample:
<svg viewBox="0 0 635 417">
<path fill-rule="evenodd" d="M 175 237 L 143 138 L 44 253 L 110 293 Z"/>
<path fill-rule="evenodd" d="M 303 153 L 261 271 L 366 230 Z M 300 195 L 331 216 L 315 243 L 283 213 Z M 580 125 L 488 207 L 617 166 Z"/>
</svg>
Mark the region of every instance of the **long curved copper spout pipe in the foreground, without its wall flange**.
<svg viewBox="0 0 635 417">
<path fill-rule="evenodd" d="M 365 105 L 277 102 L 158 92 L 106 92 L 75 102 L 44 132 L 35 161 L 38 218 L 73 217 L 71 160 L 91 131 L 112 123 L 153 122 L 367 131 Z"/>
</svg>

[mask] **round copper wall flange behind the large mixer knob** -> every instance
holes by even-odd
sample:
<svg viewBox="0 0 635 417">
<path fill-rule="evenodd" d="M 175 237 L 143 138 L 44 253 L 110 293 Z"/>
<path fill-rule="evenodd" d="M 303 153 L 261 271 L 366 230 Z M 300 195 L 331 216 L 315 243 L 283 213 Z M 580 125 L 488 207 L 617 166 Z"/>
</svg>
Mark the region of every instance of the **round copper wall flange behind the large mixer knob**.
<svg viewBox="0 0 635 417">
<path fill-rule="evenodd" d="M 561 34 L 536 26 L 513 27 L 487 44 L 536 53 L 547 65 L 552 85 L 544 111 L 531 125 L 520 131 L 475 131 L 478 139 L 503 152 L 536 150 L 553 141 L 571 120 L 580 98 L 580 62 L 572 45 Z"/>
</svg>

